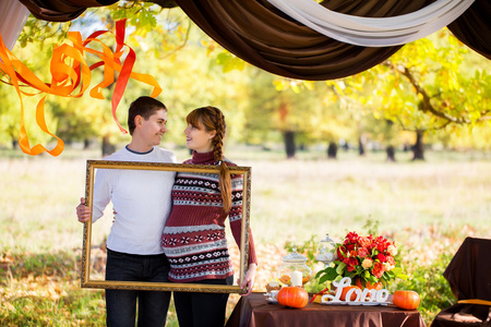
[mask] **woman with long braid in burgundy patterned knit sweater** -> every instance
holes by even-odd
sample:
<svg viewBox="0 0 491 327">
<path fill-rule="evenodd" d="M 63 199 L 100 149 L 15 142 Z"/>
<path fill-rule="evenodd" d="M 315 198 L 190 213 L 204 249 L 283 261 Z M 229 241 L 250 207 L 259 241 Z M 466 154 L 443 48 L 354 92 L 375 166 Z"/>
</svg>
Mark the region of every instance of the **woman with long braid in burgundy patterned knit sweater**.
<svg viewBox="0 0 491 327">
<path fill-rule="evenodd" d="M 178 172 L 172 187 L 172 211 L 163 233 L 163 247 L 170 262 L 169 280 L 232 284 L 233 269 L 225 237 L 225 219 L 240 246 L 242 177 L 230 175 L 224 157 L 225 118 L 215 107 L 203 107 L 187 117 L 185 144 L 193 157 L 183 164 L 219 166 L 215 173 Z M 252 234 L 249 269 L 241 286 L 252 291 L 258 261 Z M 179 326 L 224 326 L 228 294 L 175 292 Z"/>
</svg>

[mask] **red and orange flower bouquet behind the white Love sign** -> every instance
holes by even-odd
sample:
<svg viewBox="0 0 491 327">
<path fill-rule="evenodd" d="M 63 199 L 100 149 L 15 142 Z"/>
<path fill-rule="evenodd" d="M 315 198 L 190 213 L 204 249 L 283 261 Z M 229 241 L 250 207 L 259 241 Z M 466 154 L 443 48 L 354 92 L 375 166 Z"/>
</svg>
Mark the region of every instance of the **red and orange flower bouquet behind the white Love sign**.
<svg viewBox="0 0 491 327">
<path fill-rule="evenodd" d="M 360 279 L 364 287 L 367 282 L 386 284 L 395 278 L 407 278 L 403 269 L 396 267 L 395 243 L 383 237 L 361 237 L 349 232 L 343 243 L 336 244 L 333 252 L 335 261 L 315 276 L 321 283 L 349 277 L 352 283 Z"/>
</svg>

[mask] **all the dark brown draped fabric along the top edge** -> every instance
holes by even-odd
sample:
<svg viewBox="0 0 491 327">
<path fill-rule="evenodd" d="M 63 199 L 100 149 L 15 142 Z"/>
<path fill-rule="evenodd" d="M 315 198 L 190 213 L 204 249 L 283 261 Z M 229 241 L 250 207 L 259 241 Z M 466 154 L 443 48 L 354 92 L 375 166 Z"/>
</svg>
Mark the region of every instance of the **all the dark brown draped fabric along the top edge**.
<svg viewBox="0 0 491 327">
<path fill-rule="evenodd" d="M 86 8 L 118 0 L 20 0 L 40 20 L 63 22 Z M 340 13 L 384 17 L 417 11 L 434 0 L 330 0 Z M 326 37 L 296 22 L 266 0 L 176 0 L 200 28 L 244 61 L 273 74 L 311 81 L 346 77 L 395 53 L 396 47 L 359 47 Z M 454 35 L 491 59 L 491 1 L 476 0 L 448 25 Z"/>
</svg>

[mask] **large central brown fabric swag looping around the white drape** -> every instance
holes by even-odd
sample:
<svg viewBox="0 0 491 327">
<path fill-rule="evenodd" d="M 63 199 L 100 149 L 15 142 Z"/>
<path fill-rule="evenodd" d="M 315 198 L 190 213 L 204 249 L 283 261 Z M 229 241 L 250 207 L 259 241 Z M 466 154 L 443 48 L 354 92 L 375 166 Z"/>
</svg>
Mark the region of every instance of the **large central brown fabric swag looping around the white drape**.
<svg viewBox="0 0 491 327">
<path fill-rule="evenodd" d="M 297 23 L 265 0 L 177 0 L 208 36 L 244 61 L 299 80 L 334 80 L 368 70 L 400 47 L 368 48 L 326 37 Z M 360 16 L 394 16 L 416 11 L 428 0 L 332 0 L 323 5 Z"/>
</svg>

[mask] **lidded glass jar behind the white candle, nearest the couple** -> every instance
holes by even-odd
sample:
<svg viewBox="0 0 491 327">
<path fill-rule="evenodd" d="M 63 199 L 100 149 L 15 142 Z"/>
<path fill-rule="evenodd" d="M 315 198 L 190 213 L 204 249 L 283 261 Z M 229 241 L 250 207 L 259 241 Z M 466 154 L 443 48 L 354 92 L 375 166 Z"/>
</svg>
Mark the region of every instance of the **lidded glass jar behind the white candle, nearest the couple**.
<svg viewBox="0 0 491 327">
<path fill-rule="evenodd" d="M 294 251 L 282 258 L 283 265 L 279 266 L 277 277 L 285 286 L 303 287 L 312 278 L 312 269 L 306 265 L 307 257 Z"/>
</svg>

